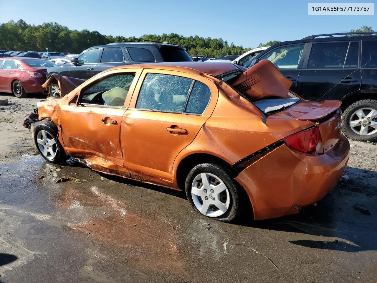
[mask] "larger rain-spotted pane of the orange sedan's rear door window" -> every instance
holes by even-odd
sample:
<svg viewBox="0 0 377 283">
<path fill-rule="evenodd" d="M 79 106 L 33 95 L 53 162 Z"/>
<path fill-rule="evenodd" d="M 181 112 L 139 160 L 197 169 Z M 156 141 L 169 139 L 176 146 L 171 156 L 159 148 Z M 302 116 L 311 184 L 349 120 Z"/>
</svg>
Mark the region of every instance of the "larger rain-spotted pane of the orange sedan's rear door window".
<svg viewBox="0 0 377 283">
<path fill-rule="evenodd" d="M 193 80 L 164 74 L 147 74 L 136 108 L 182 112 Z"/>
</svg>

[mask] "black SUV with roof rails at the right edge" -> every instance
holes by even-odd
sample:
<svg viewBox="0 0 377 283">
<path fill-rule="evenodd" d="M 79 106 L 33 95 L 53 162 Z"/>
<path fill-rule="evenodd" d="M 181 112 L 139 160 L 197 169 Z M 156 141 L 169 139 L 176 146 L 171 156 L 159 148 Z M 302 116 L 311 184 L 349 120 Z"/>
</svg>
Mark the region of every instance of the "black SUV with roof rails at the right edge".
<svg viewBox="0 0 377 283">
<path fill-rule="evenodd" d="M 253 58 L 251 66 L 268 59 L 292 81 L 291 91 L 304 99 L 341 100 L 346 136 L 375 140 L 377 35 L 350 34 L 319 34 L 277 43 Z"/>
</svg>

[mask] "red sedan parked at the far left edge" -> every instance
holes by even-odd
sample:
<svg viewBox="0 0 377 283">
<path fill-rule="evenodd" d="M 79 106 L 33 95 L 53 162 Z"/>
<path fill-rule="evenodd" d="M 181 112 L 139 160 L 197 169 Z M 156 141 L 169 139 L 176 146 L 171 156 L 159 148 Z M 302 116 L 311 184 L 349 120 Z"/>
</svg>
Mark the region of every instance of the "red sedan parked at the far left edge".
<svg viewBox="0 0 377 283">
<path fill-rule="evenodd" d="M 47 60 L 11 57 L 0 59 L 0 92 L 10 92 L 16 97 L 27 97 L 29 93 L 45 92 L 47 67 L 54 66 Z"/>
</svg>

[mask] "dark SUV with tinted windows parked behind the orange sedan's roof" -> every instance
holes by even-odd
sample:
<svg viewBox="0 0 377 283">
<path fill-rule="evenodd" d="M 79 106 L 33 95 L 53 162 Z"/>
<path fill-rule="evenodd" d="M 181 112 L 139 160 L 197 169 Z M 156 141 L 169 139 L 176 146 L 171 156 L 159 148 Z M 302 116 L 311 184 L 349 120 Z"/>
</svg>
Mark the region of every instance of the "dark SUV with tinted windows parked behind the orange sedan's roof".
<svg viewBox="0 0 377 283">
<path fill-rule="evenodd" d="M 106 69 L 130 64 L 192 61 L 186 49 L 167 43 L 126 42 L 90 47 L 71 62 L 52 66 L 47 76 L 60 74 L 87 80 Z M 50 95 L 51 89 L 49 89 Z"/>
</svg>

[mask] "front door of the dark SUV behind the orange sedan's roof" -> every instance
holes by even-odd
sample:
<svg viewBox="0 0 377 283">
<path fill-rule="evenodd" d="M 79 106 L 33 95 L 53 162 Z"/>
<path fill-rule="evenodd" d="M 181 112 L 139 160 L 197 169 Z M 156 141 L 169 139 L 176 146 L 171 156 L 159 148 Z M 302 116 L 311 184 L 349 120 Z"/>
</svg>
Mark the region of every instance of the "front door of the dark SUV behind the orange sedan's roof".
<svg viewBox="0 0 377 283">
<path fill-rule="evenodd" d="M 121 46 L 104 47 L 101 60 L 95 65 L 94 73 L 98 74 L 112 67 L 128 65 L 129 60 L 126 52 Z"/>
</svg>

